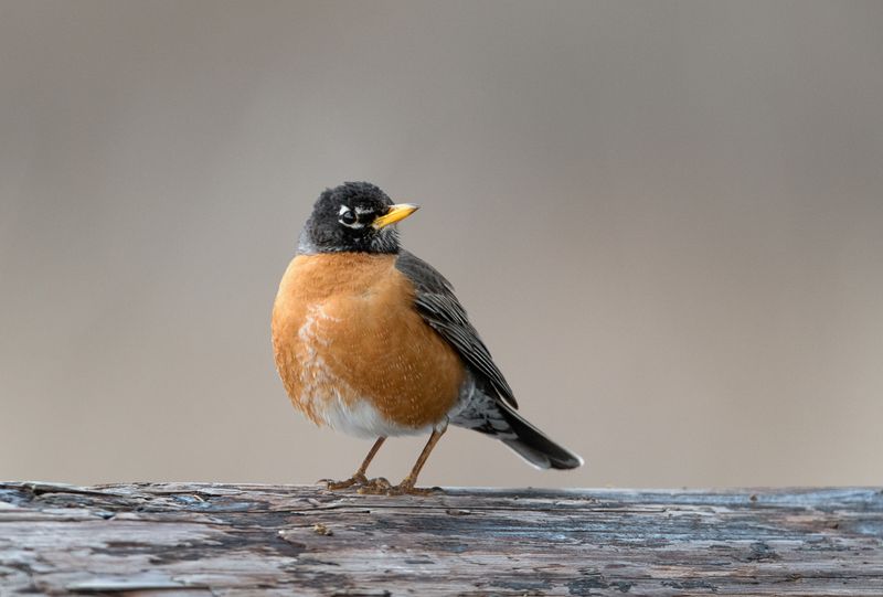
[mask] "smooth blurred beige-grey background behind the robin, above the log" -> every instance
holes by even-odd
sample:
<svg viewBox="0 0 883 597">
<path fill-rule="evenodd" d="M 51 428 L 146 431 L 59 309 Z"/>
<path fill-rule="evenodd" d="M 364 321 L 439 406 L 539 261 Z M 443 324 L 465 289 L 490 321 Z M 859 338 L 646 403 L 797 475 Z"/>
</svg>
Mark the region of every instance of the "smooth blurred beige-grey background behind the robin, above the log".
<svg viewBox="0 0 883 597">
<path fill-rule="evenodd" d="M 311 482 L 276 284 L 318 192 L 423 204 L 542 473 L 883 478 L 883 2 L 0 2 L 0 478 Z M 422 440 L 374 469 L 404 475 Z"/>
</svg>

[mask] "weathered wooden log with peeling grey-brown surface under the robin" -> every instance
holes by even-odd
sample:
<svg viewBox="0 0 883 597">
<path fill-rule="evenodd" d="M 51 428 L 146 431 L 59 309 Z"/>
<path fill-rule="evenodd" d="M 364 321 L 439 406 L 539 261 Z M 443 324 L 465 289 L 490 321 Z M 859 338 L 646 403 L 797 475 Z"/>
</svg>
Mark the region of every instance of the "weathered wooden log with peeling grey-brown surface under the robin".
<svg viewBox="0 0 883 597">
<path fill-rule="evenodd" d="M 0 594 L 883 595 L 879 489 L 0 484 Z"/>
</svg>

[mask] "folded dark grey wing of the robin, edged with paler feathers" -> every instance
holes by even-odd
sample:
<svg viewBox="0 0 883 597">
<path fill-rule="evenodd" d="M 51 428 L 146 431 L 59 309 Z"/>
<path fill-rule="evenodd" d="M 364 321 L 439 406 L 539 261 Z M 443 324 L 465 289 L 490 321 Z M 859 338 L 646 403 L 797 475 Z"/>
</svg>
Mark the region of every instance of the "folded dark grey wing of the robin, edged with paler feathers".
<svg viewBox="0 0 883 597">
<path fill-rule="evenodd" d="M 405 249 L 400 252 L 395 267 L 414 285 L 414 302 L 424 321 L 454 347 L 472 373 L 500 401 L 518 408 L 512 388 L 469 322 L 466 309 L 454 295 L 454 286 L 433 266 Z"/>
</svg>

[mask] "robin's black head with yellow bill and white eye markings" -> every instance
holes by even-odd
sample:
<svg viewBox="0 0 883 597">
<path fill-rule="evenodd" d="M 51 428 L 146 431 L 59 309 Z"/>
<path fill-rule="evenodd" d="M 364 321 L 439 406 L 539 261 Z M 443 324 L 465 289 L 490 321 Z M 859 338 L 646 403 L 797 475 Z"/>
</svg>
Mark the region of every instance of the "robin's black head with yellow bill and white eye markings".
<svg viewBox="0 0 883 597">
<path fill-rule="evenodd" d="M 394 204 L 369 182 L 326 189 L 300 233 L 298 253 L 398 253 L 395 224 L 417 209 Z"/>
</svg>

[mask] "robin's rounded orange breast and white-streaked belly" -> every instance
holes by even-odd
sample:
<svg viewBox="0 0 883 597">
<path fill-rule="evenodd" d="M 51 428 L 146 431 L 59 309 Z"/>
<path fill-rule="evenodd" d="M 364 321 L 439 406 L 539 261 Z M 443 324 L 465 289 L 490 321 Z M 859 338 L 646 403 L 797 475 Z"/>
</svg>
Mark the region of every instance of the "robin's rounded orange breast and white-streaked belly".
<svg viewBox="0 0 883 597">
<path fill-rule="evenodd" d="M 372 416 L 404 428 L 442 420 L 465 371 L 413 303 L 395 256 L 295 257 L 273 309 L 276 366 L 295 406 L 342 427 L 351 422 L 341 416 L 365 418 L 364 402 Z"/>
</svg>

